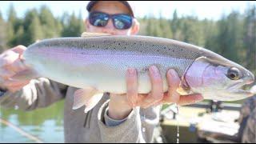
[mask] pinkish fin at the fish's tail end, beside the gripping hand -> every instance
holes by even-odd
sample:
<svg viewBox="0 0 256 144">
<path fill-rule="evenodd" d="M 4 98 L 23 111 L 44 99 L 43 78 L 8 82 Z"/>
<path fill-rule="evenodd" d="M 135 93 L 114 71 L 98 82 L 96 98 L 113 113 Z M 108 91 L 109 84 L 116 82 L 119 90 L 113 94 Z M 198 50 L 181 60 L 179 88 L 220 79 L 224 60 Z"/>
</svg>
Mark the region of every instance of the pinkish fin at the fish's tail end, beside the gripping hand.
<svg viewBox="0 0 256 144">
<path fill-rule="evenodd" d="M 28 70 L 23 70 L 21 72 L 18 72 L 11 78 L 16 80 L 30 80 L 30 79 L 39 78 L 39 77 L 40 75 L 38 74 L 38 72 L 32 69 L 28 69 Z"/>
</svg>

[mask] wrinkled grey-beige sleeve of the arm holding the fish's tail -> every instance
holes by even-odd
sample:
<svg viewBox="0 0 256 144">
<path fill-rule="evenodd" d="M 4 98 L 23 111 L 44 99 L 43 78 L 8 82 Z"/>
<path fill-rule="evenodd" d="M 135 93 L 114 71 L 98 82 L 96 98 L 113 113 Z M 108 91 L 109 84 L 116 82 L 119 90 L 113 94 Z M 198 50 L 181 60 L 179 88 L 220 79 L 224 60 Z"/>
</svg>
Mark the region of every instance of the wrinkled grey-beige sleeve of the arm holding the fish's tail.
<svg viewBox="0 0 256 144">
<path fill-rule="evenodd" d="M 0 97 L 0 105 L 4 107 L 18 107 L 20 110 L 34 110 L 46 107 L 65 97 L 67 86 L 50 81 L 48 78 L 32 79 L 30 83 L 11 93 L 6 91 Z"/>
</svg>

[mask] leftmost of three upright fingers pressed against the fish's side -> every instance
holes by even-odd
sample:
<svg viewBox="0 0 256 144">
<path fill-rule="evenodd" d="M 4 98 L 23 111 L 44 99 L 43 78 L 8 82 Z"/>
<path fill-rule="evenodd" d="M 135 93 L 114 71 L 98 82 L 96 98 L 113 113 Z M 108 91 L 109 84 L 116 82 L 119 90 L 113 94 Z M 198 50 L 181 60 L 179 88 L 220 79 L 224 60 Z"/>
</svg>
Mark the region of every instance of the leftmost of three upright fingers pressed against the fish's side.
<svg viewBox="0 0 256 144">
<path fill-rule="evenodd" d="M 135 69 L 130 68 L 126 72 L 126 89 L 126 96 L 130 106 L 136 106 L 138 100 L 138 79 Z"/>
</svg>

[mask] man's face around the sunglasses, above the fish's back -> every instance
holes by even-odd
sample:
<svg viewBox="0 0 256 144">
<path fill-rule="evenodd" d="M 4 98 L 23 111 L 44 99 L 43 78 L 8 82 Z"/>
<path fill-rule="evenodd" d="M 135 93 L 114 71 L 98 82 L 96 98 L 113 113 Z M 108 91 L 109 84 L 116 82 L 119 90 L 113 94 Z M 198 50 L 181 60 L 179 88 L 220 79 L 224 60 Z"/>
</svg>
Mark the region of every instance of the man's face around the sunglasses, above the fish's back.
<svg viewBox="0 0 256 144">
<path fill-rule="evenodd" d="M 106 14 L 130 14 L 130 10 L 121 2 L 97 2 L 91 11 L 101 11 Z M 86 18 L 86 31 L 91 33 L 106 33 L 112 35 L 132 35 L 138 34 L 139 24 L 134 18 L 133 26 L 127 30 L 118 30 L 114 27 L 112 20 L 109 20 L 104 27 L 92 26 Z"/>
</svg>

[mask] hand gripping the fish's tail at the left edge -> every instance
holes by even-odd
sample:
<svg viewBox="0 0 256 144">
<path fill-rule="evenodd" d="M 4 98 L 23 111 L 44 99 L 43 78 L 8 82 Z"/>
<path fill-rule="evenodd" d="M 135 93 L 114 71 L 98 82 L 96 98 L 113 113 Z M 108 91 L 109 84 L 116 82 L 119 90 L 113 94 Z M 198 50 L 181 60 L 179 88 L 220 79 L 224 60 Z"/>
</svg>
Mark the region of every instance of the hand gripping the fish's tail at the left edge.
<svg viewBox="0 0 256 144">
<path fill-rule="evenodd" d="M 0 54 L 0 87 L 2 89 L 15 92 L 30 82 L 30 80 L 12 79 L 14 74 L 28 69 L 21 59 L 25 50 L 25 46 L 19 45 Z"/>
</svg>

